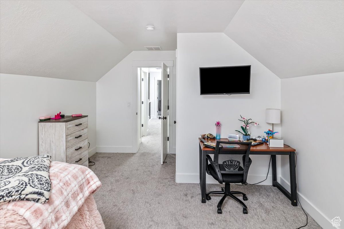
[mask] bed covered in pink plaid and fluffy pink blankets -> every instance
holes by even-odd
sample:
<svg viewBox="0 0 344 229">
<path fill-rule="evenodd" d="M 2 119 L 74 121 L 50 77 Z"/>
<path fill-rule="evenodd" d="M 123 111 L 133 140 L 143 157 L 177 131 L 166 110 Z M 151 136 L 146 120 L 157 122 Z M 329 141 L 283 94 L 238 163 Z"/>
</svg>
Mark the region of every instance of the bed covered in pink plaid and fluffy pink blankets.
<svg viewBox="0 0 344 229">
<path fill-rule="evenodd" d="M 52 161 L 49 177 L 49 201 L 44 204 L 13 201 L 0 205 L 0 228 L 105 229 L 93 198 L 101 183 L 92 170 Z"/>
</svg>

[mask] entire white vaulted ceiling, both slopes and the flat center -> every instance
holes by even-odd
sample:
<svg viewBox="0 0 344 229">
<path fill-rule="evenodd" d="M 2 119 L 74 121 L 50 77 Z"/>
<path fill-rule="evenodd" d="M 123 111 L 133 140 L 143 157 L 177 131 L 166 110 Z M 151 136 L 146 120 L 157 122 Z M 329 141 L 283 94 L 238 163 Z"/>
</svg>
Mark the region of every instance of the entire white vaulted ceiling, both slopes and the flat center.
<svg viewBox="0 0 344 229">
<path fill-rule="evenodd" d="M 343 2 L 1 0 L 0 72 L 97 81 L 198 32 L 224 32 L 280 78 L 344 71 Z"/>
</svg>

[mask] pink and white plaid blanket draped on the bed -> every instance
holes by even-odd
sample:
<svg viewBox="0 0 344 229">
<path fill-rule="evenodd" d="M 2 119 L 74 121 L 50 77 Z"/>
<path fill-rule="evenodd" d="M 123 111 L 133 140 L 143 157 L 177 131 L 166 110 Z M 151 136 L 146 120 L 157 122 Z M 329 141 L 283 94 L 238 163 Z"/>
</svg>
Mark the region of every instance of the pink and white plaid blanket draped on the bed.
<svg viewBox="0 0 344 229">
<path fill-rule="evenodd" d="M 0 211 L 14 211 L 27 220 L 33 229 L 64 228 L 86 199 L 101 186 L 93 171 L 82 165 L 52 161 L 49 177 L 51 193 L 47 203 L 13 201 L 2 204 Z M 0 221 L 3 219 L 0 218 Z"/>
</svg>

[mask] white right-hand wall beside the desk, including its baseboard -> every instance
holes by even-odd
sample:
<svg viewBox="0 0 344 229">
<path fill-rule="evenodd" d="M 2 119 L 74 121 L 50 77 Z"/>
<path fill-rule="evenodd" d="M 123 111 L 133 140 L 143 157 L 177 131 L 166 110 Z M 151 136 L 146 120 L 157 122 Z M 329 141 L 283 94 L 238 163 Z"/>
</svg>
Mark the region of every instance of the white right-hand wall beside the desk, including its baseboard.
<svg viewBox="0 0 344 229">
<path fill-rule="evenodd" d="M 343 98 L 344 72 L 281 80 L 283 138 L 296 149 L 300 202 L 323 228 L 344 218 Z M 290 190 L 288 158 L 281 164 Z"/>
</svg>

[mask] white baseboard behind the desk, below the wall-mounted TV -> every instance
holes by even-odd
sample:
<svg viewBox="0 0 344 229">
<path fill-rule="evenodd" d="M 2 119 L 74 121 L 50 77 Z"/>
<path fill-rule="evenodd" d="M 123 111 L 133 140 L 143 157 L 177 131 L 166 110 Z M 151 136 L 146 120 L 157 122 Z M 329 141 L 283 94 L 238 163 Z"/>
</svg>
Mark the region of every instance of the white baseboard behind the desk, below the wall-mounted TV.
<svg viewBox="0 0 344 229">
<path fill-rule="evenodd" d="M 266 175 L 248 175 L 247 176 L 247 183 L 254 184 L 258 183 L 266 178 Z M 218 184 L 212 176 L 206 174 L 206 181 L 207 184 Z M 277 177 L 277 181 L 279 181 L 279 177 Z M 197 174 L 185 174 L 185 173 L 176 173 L 175 174 L 175 182 L 176 183 L 200 183 L 200 175 Z M 259 185 L 272 185 L 272 176 L 268 176 L 266 181 L 259 183 Z"/>
</svg>

